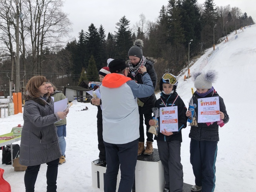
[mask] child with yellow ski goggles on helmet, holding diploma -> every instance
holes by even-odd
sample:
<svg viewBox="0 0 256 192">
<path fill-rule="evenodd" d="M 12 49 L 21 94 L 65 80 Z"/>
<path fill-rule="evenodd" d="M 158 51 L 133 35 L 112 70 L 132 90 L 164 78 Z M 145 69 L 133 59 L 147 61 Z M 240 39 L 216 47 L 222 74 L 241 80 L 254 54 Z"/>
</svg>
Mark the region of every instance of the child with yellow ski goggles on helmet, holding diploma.
<svg viewBox="0 0 256 192">
<path fill-rule="evenodd" d="M 183 188 L 180 150 L 181 130 L 187 127 L 187 108 L 176 92 L 177 85 L 176 77 L 171 73 L 165 73 L 160 79 L 161 96 L 155 103 L 155 106 L 160 109 L 160 117 L 157 117 L 158 122 L 161 121 L 160 131 L 154 139 L 157 140 L 159 157 L 164 165 L 165 186 L 163 192 L 182 192 Z M 151 119 L 149 125 L 156 125 L 156 121 Z M 176 127 L 177 130 L 168 131 L 169 128 L 174 129 L 173 127 Z"/>
</svg>

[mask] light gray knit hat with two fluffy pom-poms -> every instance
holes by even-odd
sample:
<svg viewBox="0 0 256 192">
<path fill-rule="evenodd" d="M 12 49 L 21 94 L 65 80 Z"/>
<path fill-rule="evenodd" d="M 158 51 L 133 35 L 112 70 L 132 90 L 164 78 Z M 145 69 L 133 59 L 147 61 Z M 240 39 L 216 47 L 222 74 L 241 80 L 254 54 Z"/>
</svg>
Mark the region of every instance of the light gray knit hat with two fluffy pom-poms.
<svg viewBox="0 0 256 192">
<path fill-rule="evenodd" d="M 214 70 L 207 71 L 206 73 L 195 72 L 192 74 L 195 88 L 197 89 L 211 89 L 212 83 L 215 82 L 217 73 Z"/>
</svg>

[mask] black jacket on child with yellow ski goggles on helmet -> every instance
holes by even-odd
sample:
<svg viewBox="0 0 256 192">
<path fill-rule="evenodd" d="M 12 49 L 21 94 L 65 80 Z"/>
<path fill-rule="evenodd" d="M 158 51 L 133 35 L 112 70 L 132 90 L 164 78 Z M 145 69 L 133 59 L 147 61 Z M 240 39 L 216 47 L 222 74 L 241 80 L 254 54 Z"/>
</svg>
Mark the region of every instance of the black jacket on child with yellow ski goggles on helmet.
<svg viewBox="0 0 256 192">
<path fill-rule="evenodd" d="M 165 95 L 164 93 L 161 93 L 160 99 L 157 99 L 155 107 L 157 107 L 158 109 L 160 109 L 160 107 L 165 107 L 164 103 L 166 104 L 167 107 L 171 107 L 177 95 L 178 94 L 176 92 L 172 95 Z M 161 98 L 163 99 L 164 103 L 161 100 Z M 178 131 L 173 132 L 173 135 L 171 136 L 165 136 L 159 130 L 158 136 L 155 136 L 154 140 L 158 140 L 158 141 L 178 140 L 182 142 L 181 130 L 182 128 L 187 127 L 187 116 L 186 116 L 187 107 L 185 106 L 180 96 L 178 96 L 173 106 L 178 106 Z M 157 119 L 160 124 L 160 117 L 157 117 Z"/>
</svg>

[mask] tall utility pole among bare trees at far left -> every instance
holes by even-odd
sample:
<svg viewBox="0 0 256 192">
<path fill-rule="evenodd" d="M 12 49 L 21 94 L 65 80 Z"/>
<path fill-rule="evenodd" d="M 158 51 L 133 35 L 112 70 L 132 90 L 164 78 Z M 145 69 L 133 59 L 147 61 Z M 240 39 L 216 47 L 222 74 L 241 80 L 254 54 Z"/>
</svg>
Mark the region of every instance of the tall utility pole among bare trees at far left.
<svg viewBox="0 0 256 192">
<path fill-rule="evenodd" d="M 19 1 L 16 2 L 16 90 L 20 92 Z"/>
</svg>

